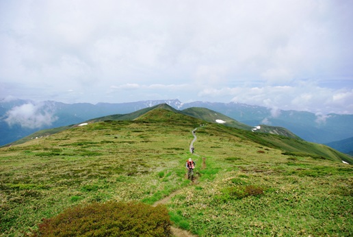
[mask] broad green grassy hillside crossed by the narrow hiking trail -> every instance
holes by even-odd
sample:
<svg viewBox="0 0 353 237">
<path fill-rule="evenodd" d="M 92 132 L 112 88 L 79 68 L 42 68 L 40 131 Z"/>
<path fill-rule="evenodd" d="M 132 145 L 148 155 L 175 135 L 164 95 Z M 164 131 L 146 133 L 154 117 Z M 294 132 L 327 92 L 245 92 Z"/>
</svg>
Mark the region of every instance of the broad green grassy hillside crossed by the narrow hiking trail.
<svg viewBox="0 0 353 237">
<path fill-rule="evenodd" d="M 352 236 L 353 168 L 323 145 L 155 108 L 0 149 L 1 236 L 93 201 L 167 204 L 199 236 Z M 189 153 L 194 138 L 195 154 Z M 196 181 L 185 160 L 196 160 Z M 205 164 L 202 160 L 205 158 Z"/>
</svg>

